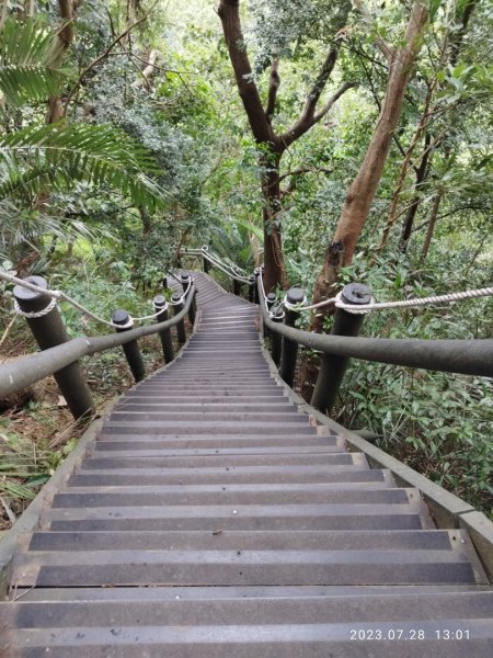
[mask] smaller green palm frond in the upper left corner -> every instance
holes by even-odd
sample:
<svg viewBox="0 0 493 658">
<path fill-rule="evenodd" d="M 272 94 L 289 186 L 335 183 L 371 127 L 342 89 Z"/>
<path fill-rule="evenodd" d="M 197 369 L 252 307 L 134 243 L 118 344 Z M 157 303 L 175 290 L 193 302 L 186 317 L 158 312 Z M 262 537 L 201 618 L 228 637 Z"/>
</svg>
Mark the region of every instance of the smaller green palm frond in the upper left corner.
<svg viewBox="0 0 493 658">
<path fill-rule="evenodd" d="M 57 95 L 61 41 L 34 20 L 8 19 L 0 30 L 0 91 L 12 105 Z"/>
</svg>

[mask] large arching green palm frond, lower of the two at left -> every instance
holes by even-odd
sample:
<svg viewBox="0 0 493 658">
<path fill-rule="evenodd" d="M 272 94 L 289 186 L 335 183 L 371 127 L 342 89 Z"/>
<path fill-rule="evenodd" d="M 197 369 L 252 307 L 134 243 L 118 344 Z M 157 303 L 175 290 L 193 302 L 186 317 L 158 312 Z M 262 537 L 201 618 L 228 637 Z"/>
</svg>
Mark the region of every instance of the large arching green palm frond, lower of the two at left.
<svg viewBox="0 0 493 658">
<path fill-rule="evenodd" d="M 61 122 L 0 136 L 0 197 L 67 190 L 77 181 L 116 189 L 136 206 L 153 208 L 164 195 L 148 175 L 159 172 L 152 156 L 113 126 Z"/>
</svg>

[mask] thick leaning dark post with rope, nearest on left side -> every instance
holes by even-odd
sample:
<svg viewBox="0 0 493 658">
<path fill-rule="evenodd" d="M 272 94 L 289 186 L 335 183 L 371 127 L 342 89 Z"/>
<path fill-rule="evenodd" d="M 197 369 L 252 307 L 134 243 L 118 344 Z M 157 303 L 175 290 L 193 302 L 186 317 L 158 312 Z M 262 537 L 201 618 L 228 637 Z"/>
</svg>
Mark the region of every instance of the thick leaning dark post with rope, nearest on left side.
<svg viewBox="0 0 493 658">
<path fill-rule="evenodd" d="M 26 281 L 43 288 L 48 287 L 47 282 L 42 276 L 27 276 Z M 19 304 L 19 308 L 24 314 L 41 313 L 51 303 L 51 297 L 43 295 L 43 293 L 34 293 L 21 285 L 14 287 L 13 294 Z M 70 340 L 56 306 L 42 317 L 33 318 L 26 316 L 26 320 L 42 350 L 54 348 L 55 345 L 59 345 L 60 343 Z M 54 374 L 54 377 L 60 387 L 61 394 L 65 397 L 73 418 L 82 418 L 82 416 L 90 415 L 94 411 L 91 392 L 89 390 L 79 362 L 76 361 L 70 365 L 62 367 Z"/>
</svg>

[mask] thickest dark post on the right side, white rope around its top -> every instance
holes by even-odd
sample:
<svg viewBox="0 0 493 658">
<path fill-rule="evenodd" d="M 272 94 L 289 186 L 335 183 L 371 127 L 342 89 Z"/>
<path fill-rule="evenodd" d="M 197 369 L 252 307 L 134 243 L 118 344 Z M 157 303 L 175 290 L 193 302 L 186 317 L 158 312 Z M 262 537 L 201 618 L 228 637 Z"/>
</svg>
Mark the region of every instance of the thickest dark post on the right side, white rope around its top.
<svg viewBox="0 0 493 658">
<path fill-rule="evenodd" d="M 341 300 L 346 304 L 358 305 L 371 302 L 371 291 L 367 285 L 349 283 L 341 293 Z M 358 336 L 365 319 L 364 314 L 348 313 L 337 308 L 334 314 L 333 336 Z M 330 413 L 337 397 L 344 373 L 349 364 L 348 356 L 324 354 L 320 366 L 317 384 L 311 397 L 311 405 L 323 413 Z"/>
</svg>

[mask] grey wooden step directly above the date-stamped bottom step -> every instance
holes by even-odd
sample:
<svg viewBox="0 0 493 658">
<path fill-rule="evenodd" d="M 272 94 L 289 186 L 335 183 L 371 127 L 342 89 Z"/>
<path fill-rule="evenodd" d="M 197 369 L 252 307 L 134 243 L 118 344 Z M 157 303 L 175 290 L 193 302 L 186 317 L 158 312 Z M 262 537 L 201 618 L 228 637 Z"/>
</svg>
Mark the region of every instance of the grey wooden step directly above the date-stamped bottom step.
<svg viewBox="0 0 493 658">
<path fill-rule="evenodd" d="M 88 551 L 18 554 L 20 587 L 473 583 L 454 551 Z"/>
</svg>

